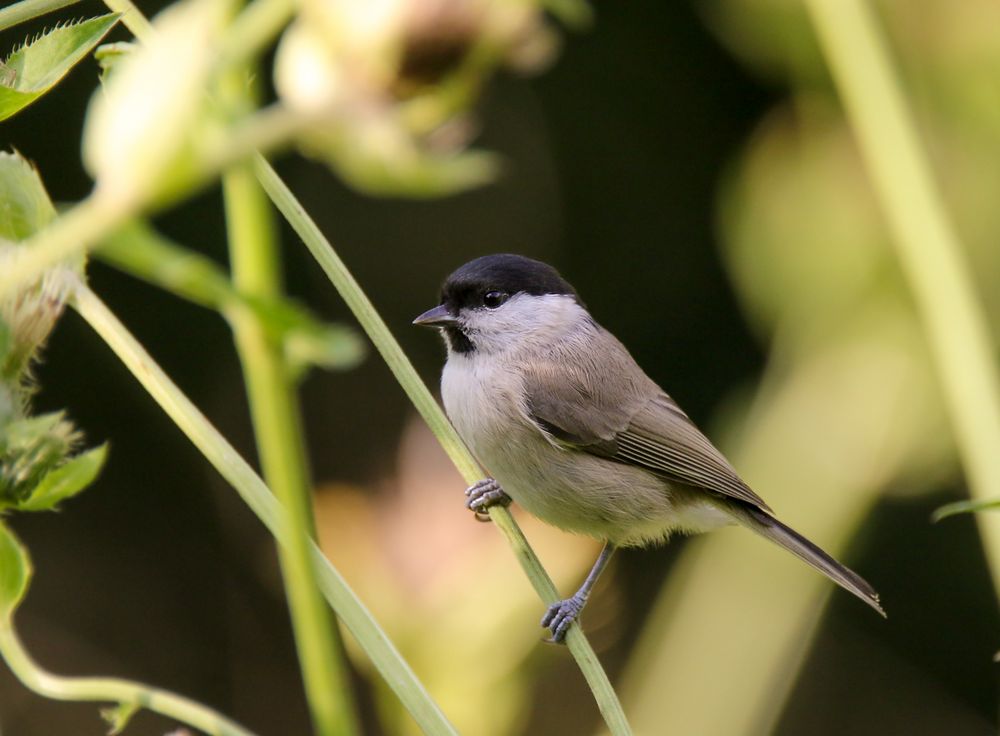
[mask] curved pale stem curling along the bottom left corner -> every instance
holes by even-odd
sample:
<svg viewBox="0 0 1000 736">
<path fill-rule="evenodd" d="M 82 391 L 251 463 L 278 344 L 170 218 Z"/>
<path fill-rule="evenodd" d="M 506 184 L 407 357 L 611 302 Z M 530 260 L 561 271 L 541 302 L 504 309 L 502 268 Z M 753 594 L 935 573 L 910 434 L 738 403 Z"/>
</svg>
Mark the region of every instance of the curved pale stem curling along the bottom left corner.
<svg viewBox="0 0 1000 736">
<path fill-rule="evenodd" d="M 13 627 L 0 623 L 0 652 L 26 687 L 55 700 L 135 705 L 173 718 L 211 736 L 253 736 L 210 708 L 166 690 L 114 677 L 61 677 L 42 669 L 25 650 Z"/>
</svg>

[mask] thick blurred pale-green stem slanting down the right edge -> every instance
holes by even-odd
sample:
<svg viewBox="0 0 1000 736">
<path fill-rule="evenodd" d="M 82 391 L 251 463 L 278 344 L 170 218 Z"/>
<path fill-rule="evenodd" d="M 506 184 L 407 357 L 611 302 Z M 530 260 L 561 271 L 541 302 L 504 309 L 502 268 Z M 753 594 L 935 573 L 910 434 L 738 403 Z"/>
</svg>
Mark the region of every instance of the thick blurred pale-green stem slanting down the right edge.
<svg viewBox="0 0 1000 736">
<path fill-rule="evenodd" d="M 893 234 L 976 500 L 1000 499 L 1000 369 L 954 225 L 874 14 L 863 0 L 807 0 Z M 977 515 L 1000 592 L 1000 516 Z"/>
</svg>

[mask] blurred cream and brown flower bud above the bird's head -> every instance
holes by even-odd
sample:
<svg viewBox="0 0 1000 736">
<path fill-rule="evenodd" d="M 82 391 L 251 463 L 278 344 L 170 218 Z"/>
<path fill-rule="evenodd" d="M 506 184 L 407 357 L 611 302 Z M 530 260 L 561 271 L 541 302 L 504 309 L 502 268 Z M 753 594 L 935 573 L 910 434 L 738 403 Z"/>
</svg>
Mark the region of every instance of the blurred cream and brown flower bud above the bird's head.
<svg viewBox="0 0 1000 736">
<path fill-rule="evenodd" d="M 496 170 L 466 153 L 470 109 L 502 64 L 538 68 L 554 49 L 531 3 L 304 0 L 278 47 L 275 84 L 311 121 L 301 143 L 376 194 L 432 196 Z"/>
</svg>

